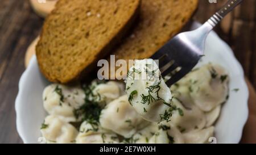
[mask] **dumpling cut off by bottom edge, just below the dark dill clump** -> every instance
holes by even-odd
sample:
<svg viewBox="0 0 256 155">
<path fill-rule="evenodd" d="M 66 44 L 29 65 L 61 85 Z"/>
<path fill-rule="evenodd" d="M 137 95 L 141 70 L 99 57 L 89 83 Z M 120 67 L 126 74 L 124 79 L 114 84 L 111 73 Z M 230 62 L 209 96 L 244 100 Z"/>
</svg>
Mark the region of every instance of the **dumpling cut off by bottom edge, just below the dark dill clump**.
<svg viewBox="0 0 256 155">
<path fill-rule="evenodd" d="M 76 137 L 77 144 L 102 144 L 119 143 L 118 136 L 101 128 L 99 124 L 83 122 L 80 126 L 79 135 Z"/>
</svg>

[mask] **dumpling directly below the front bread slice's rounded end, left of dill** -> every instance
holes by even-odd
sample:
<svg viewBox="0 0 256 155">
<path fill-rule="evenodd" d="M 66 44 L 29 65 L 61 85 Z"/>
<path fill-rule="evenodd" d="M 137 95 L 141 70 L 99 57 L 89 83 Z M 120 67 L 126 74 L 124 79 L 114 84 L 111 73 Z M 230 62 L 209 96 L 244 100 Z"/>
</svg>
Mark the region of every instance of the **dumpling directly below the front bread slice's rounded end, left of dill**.
<svg viewBox="0 0 256 155">
<path fill-rule="evenodd" d="M 67 122 L 75 122 L 75 108 L 84 104 L 85 94 L 79 86 L 52 84 L 43 92 L 43 105 L 48 114 L 57 115 Z"/>
</svg>

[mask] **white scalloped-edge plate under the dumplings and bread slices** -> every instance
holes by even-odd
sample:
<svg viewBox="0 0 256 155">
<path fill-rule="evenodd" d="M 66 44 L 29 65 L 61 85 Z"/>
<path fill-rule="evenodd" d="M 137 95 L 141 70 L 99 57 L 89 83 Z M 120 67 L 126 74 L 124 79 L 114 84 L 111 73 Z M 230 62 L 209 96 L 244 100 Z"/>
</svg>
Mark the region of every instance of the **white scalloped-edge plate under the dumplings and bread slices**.
<svg viewBox="0 0 256 155">
<path fill-rule="evenodd" d="M 195 23 L 194 26 L 198 26 Z M 217 143 L 239 143 L 243 126 L 248 118 L 247 101 L 249 92 L 240 63 L 232 49 L 215 32 L 210 32 L 205 57 L 199 65 L 213 62 L 224 66 L 230 76 L 229 100 L 222 106 L 217 120 L 215 137 Z M 19 81 L 19 93 L 15 101 L 16 126 L 24 143 L 38 143 L 40 127 L 46 117 L 43 108 L 42 93 L 49 84 L 39 71 L 34 56 Z M 233 89 L 240 89 L 238 92 Z"/>
</svg>

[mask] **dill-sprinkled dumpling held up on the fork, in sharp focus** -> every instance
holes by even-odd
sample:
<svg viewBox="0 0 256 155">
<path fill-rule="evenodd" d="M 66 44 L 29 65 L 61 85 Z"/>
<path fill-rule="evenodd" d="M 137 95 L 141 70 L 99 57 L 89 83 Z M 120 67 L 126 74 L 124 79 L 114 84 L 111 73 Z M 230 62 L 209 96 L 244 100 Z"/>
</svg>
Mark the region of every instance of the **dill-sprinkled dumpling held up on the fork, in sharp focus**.
<svg viewBox="0 0 256 155">
<path fill-rule="evenodd" d="M 135 60 L 126 81 L 129 102 L 144 119 L 159 123 L 170 120 L 172 94 L 152 59 Z"/>
</svg>

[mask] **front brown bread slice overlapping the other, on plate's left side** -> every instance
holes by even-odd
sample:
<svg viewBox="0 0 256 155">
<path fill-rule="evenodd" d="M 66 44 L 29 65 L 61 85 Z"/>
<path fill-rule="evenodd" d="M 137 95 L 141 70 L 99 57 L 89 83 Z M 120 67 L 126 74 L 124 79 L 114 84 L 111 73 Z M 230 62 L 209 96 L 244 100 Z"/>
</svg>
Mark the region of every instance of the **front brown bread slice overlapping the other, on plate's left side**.
<svg viewBox="0 0 256 155">
<path fill-rule="evenodd" d="M 140 0 L 60 0 L 46 18 L 36 56 L 51 82 L 88 73 L 131 27 Z"/>
</svg>

